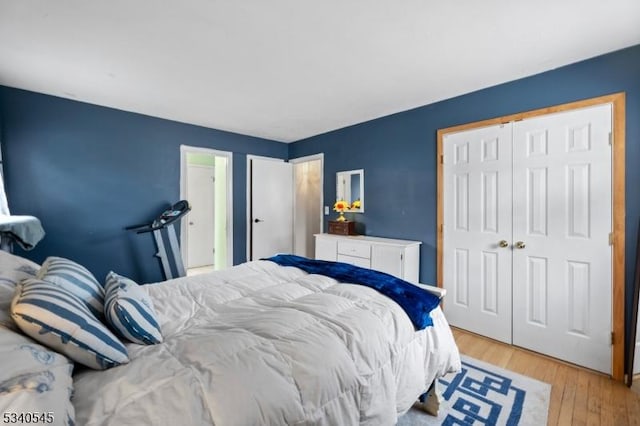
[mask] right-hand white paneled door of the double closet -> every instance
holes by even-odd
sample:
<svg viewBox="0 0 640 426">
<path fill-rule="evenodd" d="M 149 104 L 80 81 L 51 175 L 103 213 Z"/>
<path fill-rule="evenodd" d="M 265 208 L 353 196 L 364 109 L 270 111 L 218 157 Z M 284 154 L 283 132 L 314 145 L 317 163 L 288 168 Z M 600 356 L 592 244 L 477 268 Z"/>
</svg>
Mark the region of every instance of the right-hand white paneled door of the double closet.
<svg viewBox="0 0 640 426">
<path fill-rule="evenodd" d="M 597 106 L 513 128 L 513 344 L 605 373 L 611 113 Z"/>
</svg>

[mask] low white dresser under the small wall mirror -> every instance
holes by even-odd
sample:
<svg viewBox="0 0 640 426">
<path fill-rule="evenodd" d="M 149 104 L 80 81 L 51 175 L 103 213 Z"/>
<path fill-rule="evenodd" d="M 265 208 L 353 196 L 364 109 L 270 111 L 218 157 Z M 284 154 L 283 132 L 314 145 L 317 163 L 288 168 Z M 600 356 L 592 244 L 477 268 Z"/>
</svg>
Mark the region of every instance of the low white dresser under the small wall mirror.
<svg viewBox="0 0 640 426">
<path fill-rule="evenodd" d="M 315 234 L 316 259 L 350 263 L 418 283 L 420 241 Z"/>
</svg>

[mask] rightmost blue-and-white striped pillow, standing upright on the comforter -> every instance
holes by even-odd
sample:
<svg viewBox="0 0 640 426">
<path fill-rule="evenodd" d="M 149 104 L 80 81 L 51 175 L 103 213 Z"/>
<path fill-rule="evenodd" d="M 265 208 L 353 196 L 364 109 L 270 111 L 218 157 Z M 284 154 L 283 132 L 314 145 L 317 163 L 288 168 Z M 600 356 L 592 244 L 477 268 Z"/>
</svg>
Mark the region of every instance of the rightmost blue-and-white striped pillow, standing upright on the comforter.
<svg viewBox="0 0 640 426">
<path fill-rule="evenodd" d="M 106 280 L 105 317 L 121 337 L 141 345 L 162 342 L 151 298 L 130 280 L 109 272 Z"/>
</svg>

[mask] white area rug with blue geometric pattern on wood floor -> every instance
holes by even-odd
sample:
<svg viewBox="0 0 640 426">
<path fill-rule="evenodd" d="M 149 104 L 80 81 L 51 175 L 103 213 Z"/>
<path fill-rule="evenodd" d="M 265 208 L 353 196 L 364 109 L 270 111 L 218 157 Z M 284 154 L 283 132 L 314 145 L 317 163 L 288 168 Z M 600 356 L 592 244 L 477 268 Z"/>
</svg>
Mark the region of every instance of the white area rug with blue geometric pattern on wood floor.
<svg viewBox="0 0 640 426">
<path fill-rule="evenodd" d="M 546 425 L 551 385 L 462 356 L 462 371 L 439 380 L 437 417 L 412 408 L 399 426 Z"/>
</svg>

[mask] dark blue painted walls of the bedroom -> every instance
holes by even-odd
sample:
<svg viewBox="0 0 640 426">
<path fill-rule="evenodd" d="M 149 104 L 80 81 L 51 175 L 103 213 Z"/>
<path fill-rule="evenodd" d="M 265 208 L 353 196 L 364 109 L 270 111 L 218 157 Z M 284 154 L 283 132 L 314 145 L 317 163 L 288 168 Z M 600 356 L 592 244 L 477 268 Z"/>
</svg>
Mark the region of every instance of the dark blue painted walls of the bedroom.
<svg viewBox="0 0 640 426">
<path fill-rule="evenodd" d="M 422 241 L 420 279 L 433 283 L 436 130 L 621 91 L 627 94 L 629 308 L 640 217 L 640 46 L 289 146 L 1 86 L 0 136 L 12 212 L 40 217 L 47 230 L 26 253 L 35 261 L 57 254 L 99 276 L 115 268 L 141 281 L 160 279 L 151 237 L 123 228 L 178 199 L 179 145 L 187 144 L 234 152 L 234 262 L 245 260 L 246 154 L 323 152 L 325 203 L 335 200 L 337 171 L 365 169 L 366 213 L 357 220 L 369 235 Z"/>
</svg>

